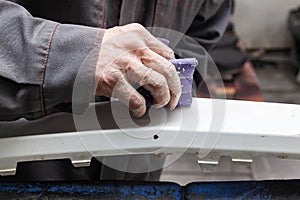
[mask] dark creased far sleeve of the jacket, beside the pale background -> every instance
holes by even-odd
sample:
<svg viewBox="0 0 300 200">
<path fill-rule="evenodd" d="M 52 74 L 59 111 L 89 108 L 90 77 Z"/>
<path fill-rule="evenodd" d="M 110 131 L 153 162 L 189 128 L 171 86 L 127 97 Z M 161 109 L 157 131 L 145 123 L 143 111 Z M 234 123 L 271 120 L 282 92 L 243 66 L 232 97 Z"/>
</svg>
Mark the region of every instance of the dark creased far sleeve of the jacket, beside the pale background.
<svg viewBox="0 0 300 200">
<path fill-rule="evenodd" d="M 205 1 L 186 34 L 209 51 L 221 39 L 231 9 L 232 0 Z"/>
</svg>

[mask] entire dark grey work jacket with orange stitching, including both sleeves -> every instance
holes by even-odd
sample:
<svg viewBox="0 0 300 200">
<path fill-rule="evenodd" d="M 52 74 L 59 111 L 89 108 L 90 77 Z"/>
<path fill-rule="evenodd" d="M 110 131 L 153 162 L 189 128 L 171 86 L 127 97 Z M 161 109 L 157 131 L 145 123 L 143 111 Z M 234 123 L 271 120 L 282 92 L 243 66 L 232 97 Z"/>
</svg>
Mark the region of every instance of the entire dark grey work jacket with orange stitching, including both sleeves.
<svg viewBox="0 0 300 200">
<path fill-rule="evenodd" d="M 72 102 L 77 77 L 84 108 L 105 28 L 132 22 L 194 38 L 220 39 L 231 0 L 0 0 L 0 120 L 36 119 Z M 19 4 L 19 5 L 18 5 Z M 94 27 L 94 28 L 92 28 Z M 101 59 L 101 58 L 100 58 Z M 82 104 L 81 104 L 82 103 Z"/>
</svg>

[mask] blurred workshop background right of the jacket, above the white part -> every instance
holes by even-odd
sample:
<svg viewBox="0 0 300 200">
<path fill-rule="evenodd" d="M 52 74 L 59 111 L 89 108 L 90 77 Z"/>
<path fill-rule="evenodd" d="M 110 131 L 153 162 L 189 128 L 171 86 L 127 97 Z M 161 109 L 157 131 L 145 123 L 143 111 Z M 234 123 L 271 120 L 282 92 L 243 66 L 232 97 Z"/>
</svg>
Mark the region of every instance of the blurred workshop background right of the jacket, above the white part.
<svg viewBox="0 0 300 200">
<path fill-rule="evenodd" d="M 299 49 L 299 0 L 236 0 L 226 32 L 210 52 L 225 91 L 208 75 L 198 96 L 299 104 Z"/>
</svg>

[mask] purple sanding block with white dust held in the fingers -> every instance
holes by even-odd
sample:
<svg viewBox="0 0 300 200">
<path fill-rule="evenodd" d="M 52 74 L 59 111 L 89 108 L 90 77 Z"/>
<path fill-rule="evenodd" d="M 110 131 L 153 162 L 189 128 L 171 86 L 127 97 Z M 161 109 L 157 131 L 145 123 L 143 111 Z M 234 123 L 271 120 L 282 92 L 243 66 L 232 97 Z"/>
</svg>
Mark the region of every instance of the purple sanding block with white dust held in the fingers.
<svg viewBox="0 0 300 200">
<path fill-rule="evenodd" d="M 181 82 L 181 96 L 177 107 L 187 107 L 192 103 L 192 85 L 193 85 L 193 74 L 195 68 L 198 65 L 196 58 L 183 58 L 183 59 L 172 59 L 170 62 L 176 68 L 178 76 Z M 147 107 L 153 105 L 153 97 L 150 92 L 145 88 L 140 87 L 137 91 L 146 99 Z"/>
</svg>

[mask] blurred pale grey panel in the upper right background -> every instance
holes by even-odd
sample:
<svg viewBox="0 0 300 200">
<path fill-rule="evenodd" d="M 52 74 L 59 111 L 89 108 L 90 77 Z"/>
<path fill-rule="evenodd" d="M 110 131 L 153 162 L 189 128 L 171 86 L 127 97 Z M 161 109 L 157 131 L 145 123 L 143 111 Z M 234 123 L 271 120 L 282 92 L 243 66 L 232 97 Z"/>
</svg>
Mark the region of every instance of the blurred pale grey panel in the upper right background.
<svg viewBox="0 0 300 200">
<path fill-rule="evenodd" d="M 294 40 L 288 28 L 288 15 L 300 6 L 299 0 L 236 0 L 233 21 L 245 46 L 292 48 Z M 249 26 L 251 24 L 251 26 Z"/>
</svg>

